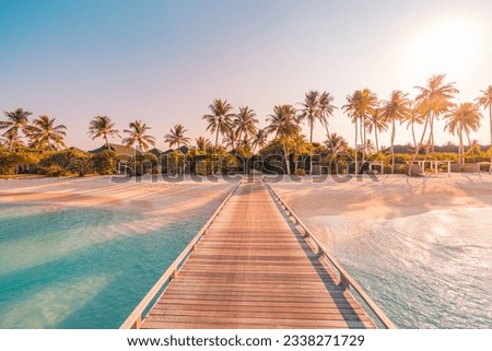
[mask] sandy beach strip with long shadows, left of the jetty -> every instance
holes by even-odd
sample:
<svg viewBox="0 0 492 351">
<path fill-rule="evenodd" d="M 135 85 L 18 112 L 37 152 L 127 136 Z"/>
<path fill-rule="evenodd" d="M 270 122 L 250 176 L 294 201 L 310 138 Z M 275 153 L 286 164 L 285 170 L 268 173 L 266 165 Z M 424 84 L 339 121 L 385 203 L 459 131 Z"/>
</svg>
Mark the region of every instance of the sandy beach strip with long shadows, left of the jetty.
<svg viewBox="0 0 492 351">
<path fill-rule="evenodd" d="M 189 178 L 154 182 L 150 176 L 126 183 L 116 183 L 112 176 L 0 180 L 0 203 L 95 207 L 176 220 L 210 215 L 233 186 Z"/>
</svg>

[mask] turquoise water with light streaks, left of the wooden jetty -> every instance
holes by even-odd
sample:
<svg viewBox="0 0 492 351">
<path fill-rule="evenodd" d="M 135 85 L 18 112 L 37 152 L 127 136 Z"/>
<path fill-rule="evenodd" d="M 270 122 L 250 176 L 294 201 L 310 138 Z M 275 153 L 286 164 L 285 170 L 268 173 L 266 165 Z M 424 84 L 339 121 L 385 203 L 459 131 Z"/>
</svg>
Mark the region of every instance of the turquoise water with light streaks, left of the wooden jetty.
<svg viewBox="0 0 492 351">
<path fill-rule="evenodd" d="M 0 204 L 0 328 L 118 328 L 206 220 Z"/>
</svg>

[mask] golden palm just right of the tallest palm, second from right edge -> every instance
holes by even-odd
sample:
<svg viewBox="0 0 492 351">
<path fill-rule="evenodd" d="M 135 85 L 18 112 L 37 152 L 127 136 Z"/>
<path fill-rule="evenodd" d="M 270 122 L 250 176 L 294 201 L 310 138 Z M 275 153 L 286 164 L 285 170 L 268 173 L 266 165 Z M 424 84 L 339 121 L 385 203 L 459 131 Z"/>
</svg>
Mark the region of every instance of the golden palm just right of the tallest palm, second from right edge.
<svg viewBox="0 0 492 351">
<path fill-rule="evenodd" d="M 480 128 L 480 118 L 482 118 L 482 115 L 480 114 L 479 107 L 472 103 L 454 105 L 453 108 L 444 115 L 444 118 L 447 120 L 444 130 L 448 130 L 453 136 L 455 133 L 458 134 L 459 162 L 465 163 L 464 133 L 468 138 L 468 141 L 470 141 L 470 131 L 477 131 Z"/>
</svg>

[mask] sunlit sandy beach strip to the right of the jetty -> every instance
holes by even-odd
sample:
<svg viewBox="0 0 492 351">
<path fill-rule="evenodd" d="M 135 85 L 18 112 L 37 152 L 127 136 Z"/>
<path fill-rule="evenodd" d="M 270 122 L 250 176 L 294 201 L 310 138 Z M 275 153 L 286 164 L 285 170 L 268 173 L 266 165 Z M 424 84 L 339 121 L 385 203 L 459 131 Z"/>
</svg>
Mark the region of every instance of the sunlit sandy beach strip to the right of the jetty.
<svg viewBox="0 0 492 351">
<path fill-rule="evenodd" d="M 271 184 L 302 219 L 341 215 L 389 220 L 432 210 L 492 207 L 492 175 L 453 174 L 438 177 L 378 176 L 337 183 Z"/>
</svg>

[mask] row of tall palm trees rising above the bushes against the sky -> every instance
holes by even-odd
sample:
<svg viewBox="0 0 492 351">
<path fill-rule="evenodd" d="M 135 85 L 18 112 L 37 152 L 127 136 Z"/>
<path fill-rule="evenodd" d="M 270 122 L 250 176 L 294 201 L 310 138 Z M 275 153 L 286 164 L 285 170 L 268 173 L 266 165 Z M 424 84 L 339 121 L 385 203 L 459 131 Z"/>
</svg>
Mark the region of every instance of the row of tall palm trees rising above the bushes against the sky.
<svg viewBox="0 0 492 351">
<path fill-rule="evenodd" d="M 333 104 L 333 96 L 329 92 L 309 91 L 304 101 L 290 105 L 277 105 L 266 117 L 267 126 L 259 127 L 257 114 L 249 106 L 239 106 L 237 112 L 226 101 L 216 98 L 209 106 L 209 113 L 202 116 L 207 122 L 207 131 L 213 138 L 213 143 L 204 136 L 195 140 L 195 149 L 203 152 L 235 152 L 243 157 L 262 155 L 268 151 L 279 151 L 283 155 L 285 173 L 291 174 L 291 167 L 298 171 L 297 154 L 307 155 L 308 163 L 303 163 L 301 171 L 313 172 L 313 154 L 329 153 L 337 156 L 349 153 L 354 159 L 353 172 L 359 173 L 371 157 L 387 161 L 391 173 L 396 167 L 395 141 L 397 126 L 406 125 L 411 129 L 412 145 L 410 163 L 415 160 L 431 157 L 435 152 L 434 132 L 440 118 L 444 119 L 444 130 L 458 139 L 457 162 L 465 163 L 465 142 L 471 149 L 471 132 L 478 131 L 483 118 L 482 109 L 489 112 L 490 134 L 492 144 L 492 85 L 480 91 L 480 95 L 472 102 L 456 102 L 459 93 L 455 82 L 446 82 L 444 74 L 431 77 L 424 86 L 415 86 L 417 95 L 410 98 L 408 93 L 395 90 L 388 100 L 379 100 L 368 89 L 356 90 L 345 97 L 345 104 L 338 107 Z M 354 148 L 349 148 L 347 140 L 330 131 L 330 119 L 337 108 L 354 126 Z M 4 112 L 4 119 L 0 121 L 2 134 L 0 143 L 9 152 L 16 152 L 22 148 L 43 151 L 59 151 L 66 149 L 65 137 L 67 127 L 57 125 L 56 118 L 39 116 L 30 122 L 32 114 L 22 108 Z M 326 140 L 317 143 L 313 140 L 316 124 L 319 122 L 326 132 Z M 308 127 L 308 139 L 301 132 L 302 124 Z M 415 125 L 422 125 L 420 136 L 415 134 Z M 156 143 L 155 137 L 150 134 L 151 127 L 142 120 L 134 120 L 127 129 L 120 131 L 108 116 L 96 116 L 89 125 L 87 134 L 92 139 L 104 139 L 109 149 L 109 139 L 121 138 L 121 143 L 138 147 L 145 153 Z M 383 152 L 378 136 L 390 131 L 390 148 Z M 175 125 L 164 136 L 164 142 L 169 148 L 190 147 L 192 141 L 186 136 L 187 129 Z M 370 139 L 374 134 L 374 142 Z M 257 153 L 259 151 L 259 153 Z M 492 151 L 489 151 L 492 161 Z M 388 156 L 389 160 L 385 157 Z M 410 167 L 408 169 L 411 172 Z"/>
</svg>

